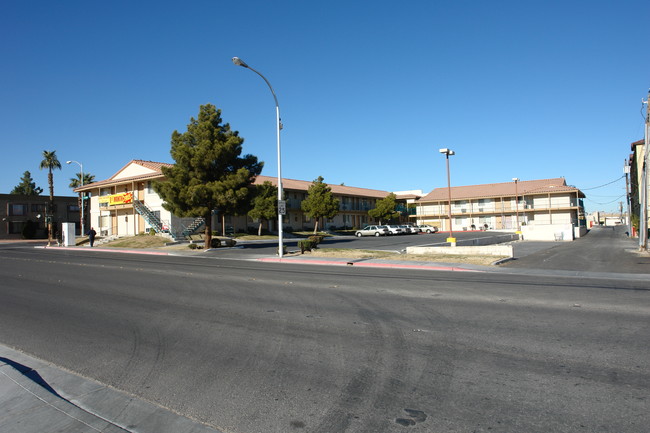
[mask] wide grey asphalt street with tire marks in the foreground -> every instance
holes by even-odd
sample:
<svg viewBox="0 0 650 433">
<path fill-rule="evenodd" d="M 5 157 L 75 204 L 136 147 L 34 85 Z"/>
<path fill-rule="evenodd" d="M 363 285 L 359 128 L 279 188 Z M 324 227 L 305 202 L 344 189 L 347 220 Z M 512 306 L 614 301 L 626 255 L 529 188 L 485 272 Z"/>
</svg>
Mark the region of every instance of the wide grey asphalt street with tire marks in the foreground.
<svg viewBox="0 0 650 433">
<path fill-rule="evenodd" d="M 0 249 L 0 342 L 224 432 L 644 432 L 633 280 Z"/>
</svg>

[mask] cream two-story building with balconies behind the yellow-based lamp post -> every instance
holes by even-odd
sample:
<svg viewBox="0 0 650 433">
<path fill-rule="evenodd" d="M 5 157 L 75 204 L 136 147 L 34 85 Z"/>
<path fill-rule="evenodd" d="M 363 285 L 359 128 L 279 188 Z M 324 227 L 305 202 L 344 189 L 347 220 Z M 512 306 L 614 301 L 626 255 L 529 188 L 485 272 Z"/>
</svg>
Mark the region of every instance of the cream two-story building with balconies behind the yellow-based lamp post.
<svg viewBox="0 0 650 433">
<path fill-rule="evenodd" d="M 585 226 L 585 195 L 564 178 L 436 188 L 417 200 L 418 224 L 448 231 L 512 229 L 530 225 Z"/>
</svg>

